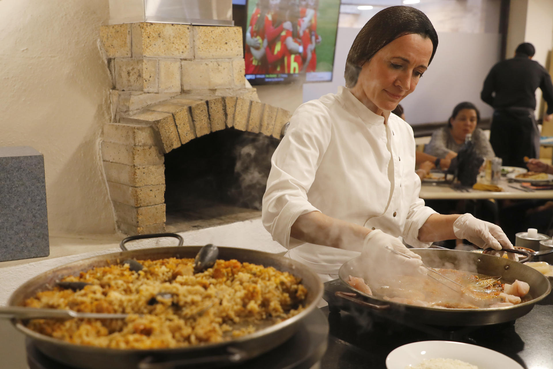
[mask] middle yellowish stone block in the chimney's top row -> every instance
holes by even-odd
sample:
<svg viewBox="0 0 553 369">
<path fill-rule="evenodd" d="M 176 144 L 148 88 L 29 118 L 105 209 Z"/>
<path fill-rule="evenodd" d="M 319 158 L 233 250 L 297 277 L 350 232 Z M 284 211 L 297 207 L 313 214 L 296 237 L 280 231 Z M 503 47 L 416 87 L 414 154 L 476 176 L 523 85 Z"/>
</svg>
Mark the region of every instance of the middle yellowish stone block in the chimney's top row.
<svg viewBox="0 0 553 369">
<path fill-rule="evenodd" d="M 133 58 L 194 59 L 192 27 L 140 22 L 132 25 Z"/>
</svg>

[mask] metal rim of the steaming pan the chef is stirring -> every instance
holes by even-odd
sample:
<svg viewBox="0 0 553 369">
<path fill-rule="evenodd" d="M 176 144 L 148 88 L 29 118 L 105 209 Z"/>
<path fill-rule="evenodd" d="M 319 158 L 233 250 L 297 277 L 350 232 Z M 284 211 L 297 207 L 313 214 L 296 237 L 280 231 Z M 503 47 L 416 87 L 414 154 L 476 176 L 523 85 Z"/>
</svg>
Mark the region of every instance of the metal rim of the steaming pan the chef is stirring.
<svg viewBox="0 0 553 369">
<path fill-rule="evenodd" d="M 430 250 L 431 252 L 436 252 L 436 253 L 437 252 L 467 253 L 467 254 L 471 255 L 471 257 L 473 257 L 473 255 L 474 255 L 473 252 L 461 251 L 461 250 L 435 250 L 435 249 L 428 249 L 428 248 L 414 248 L 414 249 L 411 249 L 411 251 L 413 251 L 415 253 L 417 252 L 417 250 L 423 250 L 423 251 Z M 529 308 L 528 311 L 530 311 L 534 307 L 533 305 L 540 302 L 542 299 L 546 298 L 547 295 L 549 295 L 551 293 L 551 283 L 549 282 L 549 279 L 547 277 L 545 277 L 540 272 L 536 271 L 534 268 L 531 268 L 529 266 L 525 266 L 524 264 L 520 264 L 521 266 L 524 266 L 525 268 L 528 268 L 528 269 L 526 269 L 528 271 L 528 273 L 537 273 L 536 276 L 538 276 L 538 274 L 539 274 L 539 276 L 541 276 L 543 279 L 545 279 L 546 283 L 548 284 L 548 287 L 547 287 L 547 289 L 544 293 L 542 293 L 538 297 L 535 297 L 535 298 L 533 298 L 531 300 L 528 300 L 524 303 L 520 303 L 520 304 L 516 304 L 516 305 L 512 305 L 512 306 L 503 306 L 503 307 L 500 307 L 500 308 L 477 308 L 477 309 L 433 308 L 433 307 L 426 307 L 426 306 L 415 306 L 415 305 L 410 305 L 410 304 L 404 304 L 404 303 L 385 300 L 385 299 L 380 298 L 380 297 L 375 297 L 374 295 L 368 295 L 368 294 L 362 292 L 361 290 L 358 290 L 357 288 L 354 288 L 351 285 L 349 285 L 347 283 L 347 281 L 344 278 L 342 278 L 342 276 L 344 275 L 344 273 L 346 271 L 346 268 L 348 267 L 348 263 L 352 262 L 354 259 L 357 259 L 357 258 L 358 257 L 353 258 L 350 261 L 344 263 L 342 265 L 342 267 L 340 267 L 340 271 L 338 271 L 338 277 L 340 278 L 342 283 L 346 285 L 346 287 L 348 287 L 351 290 L 354 290 L 357 294 L 361 295 L 362 297 L 371 300 L 372 303 L 377 303 L 377 304 L 379 303 L 380 305 L 395 306 L 396 308 L 408 308 L 411 311 L 417 311 L 417 310 L 418 311 L 444 311 L 444 312 L 447 311 L 448 313 L 460 313 L 460 314 L 463 314 L 463 313 L 464 314 L 470 314 L 470 313 L 475 313 L 475 312 L 476 313 L 489 313 L 489 314 L 492 314 L 492 313 L 495 313 L 495 312 L 498 312 L 498 311 L 506 311 L 506 310 L 513 310 L 513 309 L 523 310 L 525 308 Z M 482 259 L 482 258 L 483 259 L 491 258 L 490 260 L 494 260 L 494 259 L 497 259 L 498 257 L 488 255 L 488 254 L 478 254 L 478 258 L 480 258 L 480 259 Z M 515 261 L 511 261 L 511 260 L 508 260 L 508 259 L 503 259 L 503 260 L 507 264 L 510 264 L 510 263 L 519 264 Z"/>
</svg>

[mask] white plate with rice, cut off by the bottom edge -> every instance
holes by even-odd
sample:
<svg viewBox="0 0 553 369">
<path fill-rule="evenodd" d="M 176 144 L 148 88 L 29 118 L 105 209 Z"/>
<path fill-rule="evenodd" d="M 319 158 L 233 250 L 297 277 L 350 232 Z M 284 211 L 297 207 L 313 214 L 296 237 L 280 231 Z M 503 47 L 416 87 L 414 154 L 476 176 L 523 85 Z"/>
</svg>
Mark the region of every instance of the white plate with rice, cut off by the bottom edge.
<svg viewBox="0 0 553 369">
<path fill-rule="evenodd" d="M 524 369 L 518 362 L 497 351 L 452 341 L 422 341 L 400 346 L 388 354 L 386 367 L 405 369 L 429 358 L 457 359 L 476 365 L 478 369 Z"/>
</svg>

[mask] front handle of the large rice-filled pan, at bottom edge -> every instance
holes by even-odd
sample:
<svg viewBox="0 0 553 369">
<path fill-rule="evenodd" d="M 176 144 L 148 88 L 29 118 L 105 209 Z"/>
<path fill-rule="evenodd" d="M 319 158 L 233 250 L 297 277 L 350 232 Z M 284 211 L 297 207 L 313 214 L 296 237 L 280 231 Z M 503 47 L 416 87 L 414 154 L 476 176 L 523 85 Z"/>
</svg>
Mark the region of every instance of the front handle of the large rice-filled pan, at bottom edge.
<svg viewBox="0 0 553 369">
<path fill-rule="evenodd" d="M 182 358 L 178 360 L 154 362 L 152 356 L 144 358 L 138 363 L 138 369 L 178 369 L 180 367 L 194 367 L 194 365 L 231 365 L 236 364 L 247 358 L 246 352 L 236 349 L 236 347 L 227 347 L 227 352 L 220 355 L 207 355 L 201 357 Z"/>
</svg>

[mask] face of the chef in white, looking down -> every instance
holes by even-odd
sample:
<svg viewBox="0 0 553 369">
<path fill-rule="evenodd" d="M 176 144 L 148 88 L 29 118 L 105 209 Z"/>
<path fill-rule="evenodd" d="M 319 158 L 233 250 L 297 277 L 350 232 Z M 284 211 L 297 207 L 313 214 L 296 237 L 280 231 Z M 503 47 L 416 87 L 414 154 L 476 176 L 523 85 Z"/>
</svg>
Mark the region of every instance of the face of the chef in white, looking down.
<svg viewBox="0 0 553 369">
<path fill-rule="evenodd" d="M 415 91 L 432 55 L 432 41 L 408 34 L 390 42 L 365 63 L 353 94 L 372 112 L 392 111 L 409 93 Z M 356 93 L 357 92 L 357 93 Z"/>
</svg>

